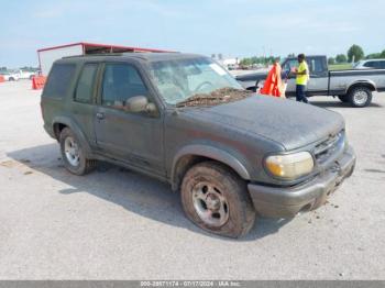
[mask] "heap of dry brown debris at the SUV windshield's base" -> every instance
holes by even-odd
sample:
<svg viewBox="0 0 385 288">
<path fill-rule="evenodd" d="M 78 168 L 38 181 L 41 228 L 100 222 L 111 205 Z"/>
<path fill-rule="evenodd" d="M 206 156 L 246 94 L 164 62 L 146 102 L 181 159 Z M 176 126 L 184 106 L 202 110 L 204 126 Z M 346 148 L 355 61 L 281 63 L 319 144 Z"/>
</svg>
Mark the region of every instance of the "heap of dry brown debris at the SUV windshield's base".
<svg viewBox="0 0 385 288">
<path fill-rule="evenodd" d="M 227 103 L 235 100 L 240 100 L 251 96 L 251 91 L 235 89 L 232 87 L 224 87 L 213 90 L 210 93 L 196 93 L 176 103 L 175 107 L 187 107 L 187 106 L 215 106 L 219 103 Z"/>
</svg>

